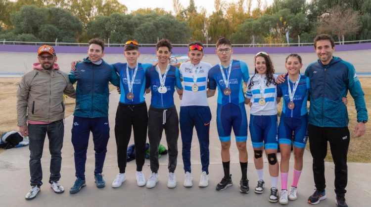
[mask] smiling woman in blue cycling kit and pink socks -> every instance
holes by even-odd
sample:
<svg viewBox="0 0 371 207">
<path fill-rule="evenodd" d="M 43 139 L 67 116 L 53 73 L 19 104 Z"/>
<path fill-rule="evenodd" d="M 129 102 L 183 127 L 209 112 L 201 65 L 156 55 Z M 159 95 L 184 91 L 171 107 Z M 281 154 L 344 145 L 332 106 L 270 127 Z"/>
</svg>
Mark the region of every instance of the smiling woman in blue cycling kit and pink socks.
<svg viewBox="0 0 371 207">
<path fill-rule="evenodd" d="M 303 154 L 307 143 L 309 78 L 300 75 L 303 66 L 301 57 L 290 54 L 285 68 L 288 75 L 285 82 L 277 85 L 277 97 L 283 97 L 282 113 L 278 126 L 278 143 L 281 151 L 281 195 L 280 204 L 296 200 L 297 183 L 303 169 Z M 293 135 L 293 139 L 292 139 Z M 291 155 L 291 140 L 294 142 L 294 172 L 290 190 L 287 191 L 288 166 Z"/>
</svg>

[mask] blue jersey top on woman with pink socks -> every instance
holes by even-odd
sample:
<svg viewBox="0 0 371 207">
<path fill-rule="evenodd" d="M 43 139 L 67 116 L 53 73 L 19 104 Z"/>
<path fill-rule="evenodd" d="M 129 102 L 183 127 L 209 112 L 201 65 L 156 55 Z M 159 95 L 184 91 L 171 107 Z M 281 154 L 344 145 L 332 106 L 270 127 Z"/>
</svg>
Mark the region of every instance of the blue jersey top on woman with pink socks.
<svg viewBox="0 0 371 207">
<path fill-rule="evenodd" d="M 288 75 L 286 76 L 285 82 L 277 85 L 277 97 L 283 97 L 282 113 L 284 113 L 286 117 L 300 119 L 300 116 L 303 116 L 308 113 L 307 101 L 310 89 L 309 77 L 305 75 L 300 75 L 300 80 L 293 97 L 295 107 L 292 110 L 289 109 L 287 106 L 287 104 L 290 102 L 287 81 L 289 81 L 290 88 L 292 91 L 293 83 L 288 78 Z"/>
</svg>

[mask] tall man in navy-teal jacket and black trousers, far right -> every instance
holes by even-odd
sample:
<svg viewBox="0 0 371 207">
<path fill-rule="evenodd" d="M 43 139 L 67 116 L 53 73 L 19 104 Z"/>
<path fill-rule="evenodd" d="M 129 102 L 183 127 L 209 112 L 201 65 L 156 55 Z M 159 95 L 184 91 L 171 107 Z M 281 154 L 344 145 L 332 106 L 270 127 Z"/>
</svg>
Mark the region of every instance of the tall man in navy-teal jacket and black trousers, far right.
<svg viewBox="0 0 371 207">
<path fill-rule="evenodd" d="M 366 131 L 368 120 L 364 92 L 352 64 L 333 57 L 334 40 L 329 35 L 318 35 L 314 47 L 319 60 L 305 71 L 310 79 L 309 141 L 313 157 L 313 175 L 315 193 L 308 198 L 308 203 L 318 204 L 325 196 L 325 164 L 327 141 L 329 141 L 335 164 L 336 205 L 347 207 L 345 187 L 347 185 L 347 153 L 349 147 L 348 111 L 342 102 L 348 90 L 357 110 L 356 137 Z"/>
</svg>

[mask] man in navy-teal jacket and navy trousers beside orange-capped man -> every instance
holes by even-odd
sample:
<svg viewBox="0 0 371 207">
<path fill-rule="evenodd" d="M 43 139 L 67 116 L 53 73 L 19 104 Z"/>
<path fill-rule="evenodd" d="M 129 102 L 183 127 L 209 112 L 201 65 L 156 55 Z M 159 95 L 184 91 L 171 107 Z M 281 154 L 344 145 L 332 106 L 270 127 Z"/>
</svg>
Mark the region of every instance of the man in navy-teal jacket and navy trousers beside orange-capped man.
<svg viewBox="0 0 371 207">
<path fill-rule="evenodd" d="M 103 61 L 104 42 L 100 39 L 89 41 L 88 58 L 76 65 L 68 76 L 77 82 L 76 107 L 72 126 L 72 144 L 75 150 L 76 181 L 70 193 L 77 193 L 86 185 L 85 163 L 90 132 L 93 133 L 95 151 L 95 184 L 105 186 L 102 177 L 103 164 L 109 138 L 108 123 L 108 82 L 118 86 L 120 78 L 115 69 Z"/>
</svg>

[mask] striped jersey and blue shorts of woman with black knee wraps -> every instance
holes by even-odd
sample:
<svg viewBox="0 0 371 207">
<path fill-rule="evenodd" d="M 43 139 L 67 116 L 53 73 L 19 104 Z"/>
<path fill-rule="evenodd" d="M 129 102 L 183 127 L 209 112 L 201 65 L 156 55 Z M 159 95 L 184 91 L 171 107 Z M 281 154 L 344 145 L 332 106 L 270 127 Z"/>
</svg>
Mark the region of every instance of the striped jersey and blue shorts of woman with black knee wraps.
<svg viewBox="0 0 371 207">
<path fill-rule="evenodd" d="M 265 149 L 278 148 L 277 135 L 277 88 L 276 85 L 270 83 L 265 85 L 267 77 L 265 74 L 261 76 L 263 84 L 265 85 L 264 92 L 261 91 L 261 79 L 259 74 L 255 74 L 247 82 L 246 98 L 251 99 L 250 111 L 250 136 L 253 147 L 265 146 Z M 274 74 L 276 81 L 277 75 Z M 251 88 L 248 86 L 250 82 L 253 83 Z M 259 104 L 259 100 L 263 98 L 265 104 Z"/>
</svg>

